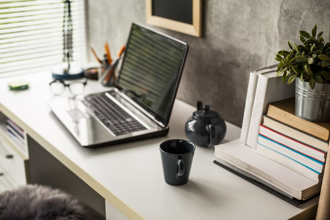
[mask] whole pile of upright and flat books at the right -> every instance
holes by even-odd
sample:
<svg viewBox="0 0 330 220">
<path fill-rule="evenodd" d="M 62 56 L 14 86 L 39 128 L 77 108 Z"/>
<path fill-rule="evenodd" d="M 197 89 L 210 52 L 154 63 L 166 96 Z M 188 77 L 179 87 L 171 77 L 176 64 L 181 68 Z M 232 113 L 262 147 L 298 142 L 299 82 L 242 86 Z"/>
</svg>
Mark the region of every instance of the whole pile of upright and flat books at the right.
<svg viewBox="0 0 330 220">
<path fill-rule="evenodd" d="M 320 132 L 321 126 L 311 126 L 317 123 L 295 116 L 295 85 L 283 83 L 276 70 L 250 72 L 241 137 L 215 145 L 214 163 L 300 207 L 319 198 L 330 126 Z M 274 110 L 285 101 L 293 105 L 290 115 Z"/>
</svg>

